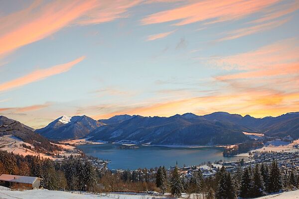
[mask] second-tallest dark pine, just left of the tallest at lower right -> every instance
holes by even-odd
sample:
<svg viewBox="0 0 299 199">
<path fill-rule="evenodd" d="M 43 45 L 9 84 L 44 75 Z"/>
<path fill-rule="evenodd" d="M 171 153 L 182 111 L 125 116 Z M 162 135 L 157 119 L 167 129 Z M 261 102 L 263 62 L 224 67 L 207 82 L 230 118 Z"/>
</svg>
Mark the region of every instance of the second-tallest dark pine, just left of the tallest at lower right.
<svg viewBox="0 0 299 199">
<path fill-rule="evenodd" d="M 259 164 L 256 164 L 254 170 L 253 170 L 253 189 L 252 194 L 253 197 L 260 197 L 265 195 L 265 183 L 263 176 L 260 171 Z"/>
</svg>

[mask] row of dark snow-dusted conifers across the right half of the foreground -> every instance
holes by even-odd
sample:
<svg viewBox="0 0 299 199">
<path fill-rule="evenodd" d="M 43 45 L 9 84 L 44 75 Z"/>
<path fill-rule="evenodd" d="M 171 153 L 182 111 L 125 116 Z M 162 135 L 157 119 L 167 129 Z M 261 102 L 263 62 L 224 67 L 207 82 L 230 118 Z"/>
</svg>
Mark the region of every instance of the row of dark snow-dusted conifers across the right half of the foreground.
<svg viewBox="0 0 299 199">
<path fill-rule="evenodd" d="M 169 181 L 164 180 L 169 179 Z M 181 193 L 195 194 L 197 199 L 236 199 L 257 198 L 280 191 L 299 189 L 299 175 L 293 169 L 281 171 L 276 161 L 270 166 L 256 164 L 255 167 L 239 167 L 235 172 L 228 172 L 222 166 L 215 176 L 203 178 L 202 171 L 196 169 L 190 179 L 180 175 L 175 167 L 170 177 L 158 169 L 156 186 L 165 192 L 165 187 L 173 196 Z M 166 189 L 167 190 L 167 189 Z"/>
</svg>

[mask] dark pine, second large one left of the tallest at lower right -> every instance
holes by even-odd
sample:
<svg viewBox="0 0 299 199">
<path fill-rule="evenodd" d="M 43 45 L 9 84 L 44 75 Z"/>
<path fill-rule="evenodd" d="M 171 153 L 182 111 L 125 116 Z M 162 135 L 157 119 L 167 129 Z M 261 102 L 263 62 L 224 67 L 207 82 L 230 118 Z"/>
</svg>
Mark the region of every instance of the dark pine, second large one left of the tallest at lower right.
<svg viewBox="0 0 299 199">
<path fill-rule="evenodd" d="M 240 197 L 250 198 L 252 197 L 253 180 L 249 168 L 245 168 L 241 181 Z"/>
</svg>

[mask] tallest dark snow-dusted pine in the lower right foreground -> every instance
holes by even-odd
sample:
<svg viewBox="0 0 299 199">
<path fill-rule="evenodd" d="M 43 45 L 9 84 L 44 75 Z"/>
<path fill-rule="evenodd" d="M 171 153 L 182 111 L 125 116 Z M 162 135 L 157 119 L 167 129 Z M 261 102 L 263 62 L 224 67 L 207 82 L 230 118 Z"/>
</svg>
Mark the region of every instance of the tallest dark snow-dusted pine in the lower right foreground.
<svg viewBox="0 0 299 199">
<path fill-rule="evenodd" d="M 273 161 L 269 174 L 269 192 L 276 193 L 283 188 L 283 181 L 280 169 L 276 161 Z"/>
</svg>

